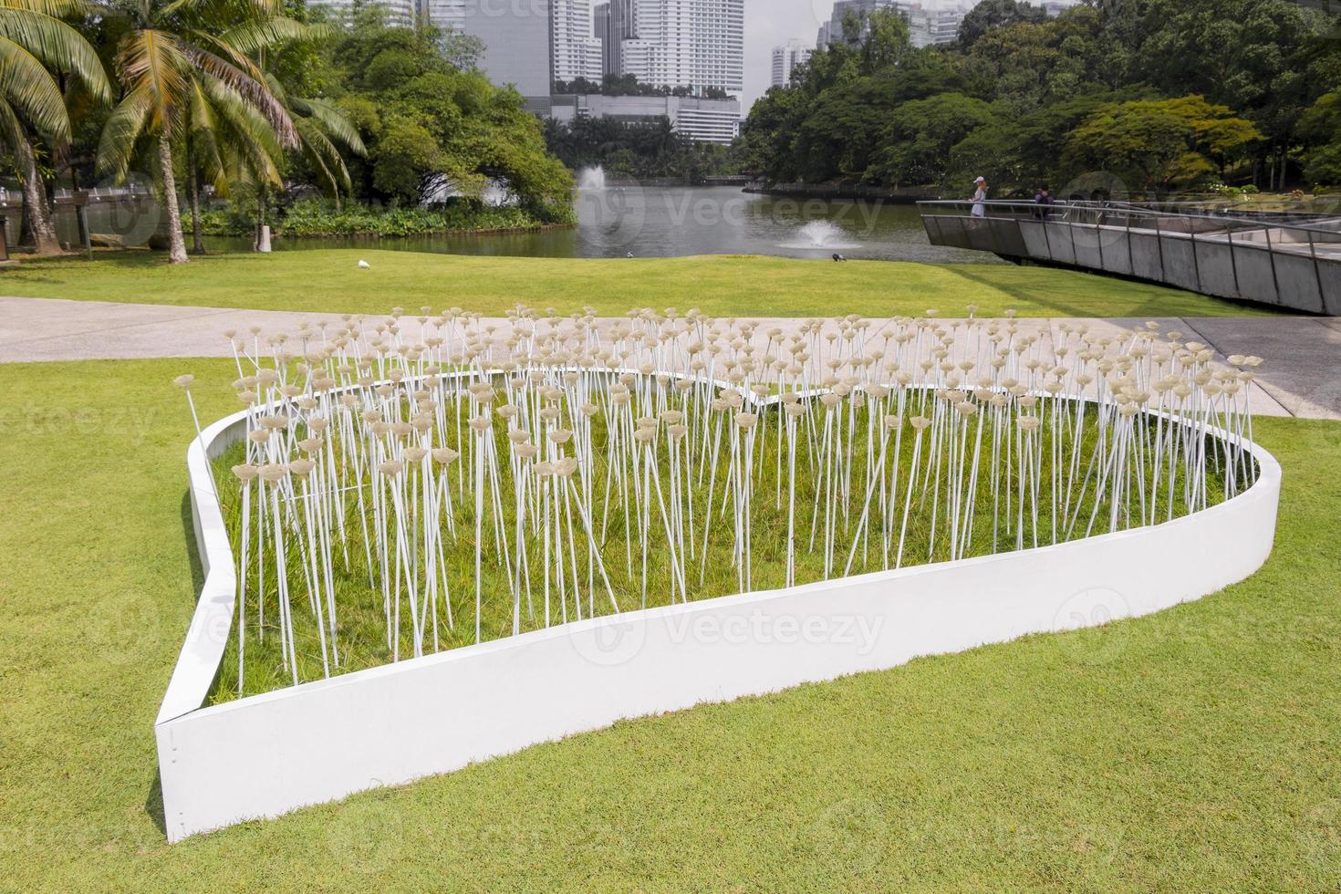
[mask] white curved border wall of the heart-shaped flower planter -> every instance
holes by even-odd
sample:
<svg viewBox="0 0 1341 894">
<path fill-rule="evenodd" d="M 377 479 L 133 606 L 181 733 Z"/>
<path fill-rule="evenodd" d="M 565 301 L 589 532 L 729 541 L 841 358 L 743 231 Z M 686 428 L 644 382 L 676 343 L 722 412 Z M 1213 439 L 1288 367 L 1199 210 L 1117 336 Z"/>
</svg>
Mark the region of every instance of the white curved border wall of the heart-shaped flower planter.
<svg viewBox="0 0 1341 894">
<path fill-rule="evenodd" d="M 618 720 L 1152 614 L 1261 568 L 1281 496 L 1279 464 L 1248 445 L 1251 488 L 1164 524 L 629 611 L 201 708 L 237 592 L 209 461 L 244 425 L 220 420 L 186 452 L 205 583 L 154 722 L 170 842 Z"/>
</svg>

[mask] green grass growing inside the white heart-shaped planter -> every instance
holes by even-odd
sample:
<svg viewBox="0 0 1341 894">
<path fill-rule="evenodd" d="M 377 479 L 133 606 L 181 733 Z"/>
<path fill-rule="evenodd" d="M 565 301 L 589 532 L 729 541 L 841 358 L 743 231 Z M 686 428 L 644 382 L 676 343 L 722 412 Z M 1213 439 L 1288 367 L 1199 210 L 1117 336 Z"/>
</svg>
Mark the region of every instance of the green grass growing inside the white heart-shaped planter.
<svg viewBox="0 0 1341 894">
<path fill-rule="evenodd" d="M 1070 407 L 1063 402 L 1063 406 Z M 1067 413 L 1071 410 L 1067 409 Z M 923 446 L 919 457 L 919 474 L 925 474 L 925 469 L 933 469 L 929 483 L 919 477 L 912 499 L 908 499 L 908 476 L 913 465 L 916 449 L 916 432 L 909 418 L 902 422 L 901 430 L 892 432 L 888 440 L 885 468 L 888 480 L 893 480 L 893 470 L 897 465 L 900 481 L 897 492 L 892 500 L 893 507 L 888 513 L 889 548 L 885 550 L 885 520 L 880 509 L 878 489 L 873 492 L 870 517 L 866 525 L 860 524 L 862 508 L 866 499 L 868 469 L 872 458 L 880 457 L 880 428 L 868 428 L 869 413 L 865 405 L 845 406 L 842 410 L 825 410 L 815 401 L 807 410 L 809 417 L 798 420 L 797 426 L 797 478 L 795 478 L 795 580 L 798 584 L 825 580 L 825 507 L 831 507 L 833 512 L 833 540 L 830 547 L 829 578 L 843 576 L 843 570 L 852 558 L 852 575 L 870 571 L 881 571 L 894 567 L 898 560 L 900 536 L 904 531 L 904 511 L 908 511 L 907 532 L 902 535 L 902 566 L 927 564 L 932 562 L 945 562 L 952 558 L 947 519 L 951 512 L 951 488 L 948 477 L 947 450 L 960 449 L 959 445 L 944 445 L 936 454 L 932 453 L 932 438 L 928 432 L 923 437 Z M 822 465 L 817 440 L 825 426 L 825 414 L 830 413 L 834 426 L 843 429 L 843 437 L 852 438 L 845 445 L 842 464 L 838 466 L 835 483 L 829 485 L 818 477 Z M 640 413 L 634 413 L 640 416 Z M 880 414 L 882 416 L 882 413 Z M 730 416 L 715 413 L 711 418 L 730 421 Z M 456 537 L 451 539 L 445 528 L 448 513 L 439 515 L 436 524 L 444 528 L 444 558 L 445 578 L 449 599 L 441 595 L 433 606 L 437 617 L 436 637 L 425 635 L 424 654 L 436 650 L 456 649 L 473 645 L 476 642 L 476 588 L 475 588 L 475 491 L 472 481 L 471 456 L 465 452 L 465 444 L 472 437 L 464 421 L 461 429 L 456 428 L 455 417 L 451 411 L 448 418 L 448 437 L 445 444 L 461 446 L 463 456 L 447 468 L 449 488 L 452 492 L 452 520 L 455 520 Z M 464 418 L 464 417 L 463 417 Z M 1053 436 L 1049 426 L 1041 426 L 1037 437 L 1042 438 L 1042 464 L 1039 483 L 1039 513 L 1037 519 L 1033 513 L 1033 497 L 1025 511 L 1019 507 L 1018 464 L 1016 453 L 1010 457 L 1007 468 L 1006 445 L 1000 446 L 996 476 L 992 474 L 992 437 L 990 428 L 984 428 L 982 437 L 980 472 L 974 503 L 972 527 L 968 547 L 961 556 L 982 556 L 994 552 L 1003 552 L 1023 544 L 1026 548 L 1046 546 L 1053 543 L 1054 505 L 1057 507 L 1055 523 L 1061 532 L 1058 540 L 1084 537 L 1086 531 L 1094 535 L 1108 533 L 1110 529 L 1125 529 L 1140 524 L 1139 508 L 1140 497 L 1136 487 L 1129 488 L 1125 501 L 1120 504 L 1117 527 L 1112 527 L 1112 503 L 1105 493 L 1104 499 L 1096 497 L 1096 481 L 1090 480 L 1085 488 L 1080 487 L 1080 476 L 1084 472 L 1097 446 L 1097 411 L 1090 407 L 1085 414 L 1084 437 L 1078 450 L 1078 481 L 1071 495 L 1065 493 L 1067 466 L 1073 461 L 1073 440 L 1062 437 L 1058 440 L 1059 452 L 1059 492 L 1053 499 Z M 672 550 L 665 533 L 665 524 L 661 517 L 660 504 L 654 492 L 649 492 L 650 523 L 648 537 L 644 541 L 640 536 L 641 508 L 633 497 L 632 484 L 628 488 L 628 503 L 618 499 L 618 483 L 610 481 L 610 465 L 607 453 L 607 432 L 605 417 L 593 420 L 593 481 L 591 481 L 591 523 L 599 541 L 601 566 L 610 582 L 613 595 L 621 611 L 644 607 L 660 607 L 675 604 L 680 600 L 679 590 L 675 584 L 675 568 L 672 564 Z M 786 586 L 787 563 L 787 536 L 789 536 L 789 488 L 787 488 L 787 448 L 786 441 L 779 450 L 778 445 L 778 409 L 767 409 L 760 414 L 756 430 L 756 444 L 754 454 L 754 487 L 751 497 L 751 532 L 750 532 L 750 591 L 776 590 Z M 1010 417 L 1014 420 L 1014 416 Z M 1012 421 L 1007 421 L 1003 430 L 1014 434 Z M 878 418 L 876 420 L 878 424 Z M 814 426 L 815 437 L 807 437 L 806 429 Z M 339 426 L 333 426 L 338 429 Z M 970 426 L 972 430 L 972 424 Z M 1153 438 L 1153 422 L 1151 424 Z M 1167 429 L 1165 429 L 1167 430 Z M 868 448 L 868 432 L 870 441 Z M 500 453 L 499 481 L 502 491 L 502 539 L 495 532 L 495 512 L 489 507 L 489 497 L 485 499 L 483 516 L 481 539 L 481 611 L 480 629 L 481 642 L 500 639 L 512 633 L 514 591 L 511 579 L 516 579 L 516 496 L 515 477 L 507 461 L 508 441 L 507 428 L 503 420 L 496 418 L 493 437 Z M 299 437 L 306 437 L 304 432 Z M 727 453 L 728 453 L 728 426 L 723 426 L 720 434 L 720 456 L 717 460 L 716 480 L 711 481 L 707 472 L 709 464 L 697 466 L 693 474 L 681 472 L 681 480 L 689 484 L 685 503 L 685 539 L 693 540 L 692 551 L 685 556 L 685 583 L 689 600 L 711 599 L 715 596 L 734 595 L 746 591 L 742 583 L 742 574 L 736 568 L 735 551 L 735 521 L 734 521 L 734 495 L 727 492 Z M 963 449 L 966 461 L 971 461 L 974 436 L 970 434 Z M 1215 445 L 1207 441 L 1211 450 L 1208 461 L 1210 503 L 1214 505 L 1220 500 L 1224 491 L 1226 470 L 1218 468 Z M 901 448 L 898 462 L 894 462 L 896 445 Z M 661 481 L 662 499 L 666 500 L 668 512 L 670 509 L 669 480 L 670 465 L 668 456 L 668 441 L 664 426 L 656 442 L 658 460 L 658 477 Z M 1016 446 L 1011 446 L 1016 450 Z M 569 446 L 571 453 L 571 445 Z M 337 449 L 339 454 L 339 449 Z M 683 452 L 681 452 L 683 454 Z M 1153 441 L 1145 444 L 1143 452 L 1145 461 L 1153 456 Z M 709 448 L 711 457 L 711 448 Z M 224 505 L 225 521 L 233 543 L 235 560 L 240 555 L 240 491 L 237 478 L 229 470 L 233 465 L 245 458 L 243 444 L 235 444 L 215 462 L 216 480 L 220 483 L 220 492 Z M 780 462 L 779 462 L 780 458 Z M 1183 485 L 1187 469 L 1181 458 L 1176 466 L 1179 489 Z M 441 466 L 437 466 L 441 474 Z M 1167 481 L 1167 469 L 1164 470 Z M 1008 476 L 1008 477 L 1007 477 Z M 574 476 L 574 483 L 579 481 Z M 994 481 L 999 487 L 994 489 Z M 611 485 L 611 497 L 606 509 L 605 493 L 607 484 Z M 652 478 L 656 487 L 656 478 Z M 1242 483 L 1240 483 L 1242 484 Z M 464 489 L 461 489 L 464 487 Z M 530 485 L 534 488 L 532 484 Z M 830 487 L 833 488 L 830 491 Z M 325 600 L 325 588 L 316 578 L 315 590 L 308 584 L 312 579 L 304 568 L 304 555 L 299 548 L 303 535 L 290 533 L 287 537 L 286 567 L 288 570 L 287 584 L 290 598 L 290 614 L 294 623 L 295 654 L 299 682 L 311 682 L 325 676 L 322 641 L 323 633 L 327 638 L 327 657 L 331 676 L 350 673 L 367 667 L 389 663 L 394 659 L 406 659 L 414 655 L 412 635 L 412 613 L 409 607 L 409 587 L 397 582 L 393 575 L 388 576 L 390 584 L 390 602 L 381 587 L 381 571 L 375 541 L 365 547 L 363 531 L 375 531 L 378 524 L 373 512 L 373 484 L 362 480 L 362 493 L 347 489 L 343 496 L 346 523 L 343 528 L 333 528 L 333 566 L 335 570 L 334 602 L 337 610 L 337 625 L 334 641 L 335 650 L 330 650 L 329 629 L 318 626 L 318 617 L 312 607 L 312 599 L 323 599 L 322 611 L 330 609 Z M 488 493 L 492 493 L 489 491 Z M 464 495 L 464 496 L 463 496 Z M 1161 487 L 1157 495 L 1147 495 L 1153 500 L 1155 517 L 1165 520 L 1168 517 L 1181 517 L 1185 508 L 1180 499 L 1173 499 L 1172 512 L 1169 511 L 1169 492 Z M 362 500 L 359 499 L 362 497 Z M 692 499 L 693 513 L 688 512 Z M 711 521 L 708 511 L 711 500 Z M 223 659 L 220 676 L 211 694 L 215 704 L 231 701 L 240 696 L 257 694 L 282 689 L 292 684 L 294 674 L 284 659 L 279 626 L 279 595 L 275 580 L 275 558 L 271 554 L 266 558 L 266 583 L 263 588 L 256 586 L 256 491 L 253 485 L 251 508 L 251 560 L 247 583 L 245 610 L 247 633 L 243 643 L 244 662 L 241 666 L 243 685 L 239 686 L 237 661 L 237 611 L 233 614 L 232 635 Z M 282 501 L 282 512 L 288 505 L 302 515 L 296 501 Z M 361 513 L 362 507 L 362 513 Z M 268 504 L 267 504 L 267 511 Z M 416 531 L 420 525 L 428 524 L 422 511 L 418 512 L 417 521 L 413 523 Z M 569 528 L 563 532 L 563 566 L 566 598 L 561 598 L 558 584 L 558 567 L 555 554 L 558 541 L 551 539 L 551 570 L 552 578 L 548 583 L 548 599 L 546 594 L 546 578 L 542 571 L 546 556 L 544 537 L 536 529 L 536 517 L 528 516 L 523 531 L 526 552 L 530 562 L 530 574 L 522 574 L 522 586 L 518 588 L 520 602 L 520 631 L 542 630 L 548 625 L 559 625 L 565 621 L 578 621 L 589 617 L 603 617 L 614 614 L 610 604 L 610 595 L 605 588 L 599 574 L 599 566 L 593 563 L 587 551 L 587 536 L 583 528 L 581 513 L 574 507 L 569 516 L 571 519 L 571 543 L 569 547 Z M 268 521 L 268 519 L 267 519 Z M 963 521 L 960 521 L 963 524 Z M 366 525 L 366 528 L 365 528 Z M 1067 537 L 1065 531 L 1074 525 L 1074 531 Z M 306 529 L 306 528 L 304 528 Z M 963 528 L 961 528 L 963 529 Z M 341 533 L 342 531 L 342 533 Z M 552 528 L 551 528 L 552 532 Z M 267 537 L 271 535 L 267 532 Z M 421 535 L 420 535 L 421 536 Z M 500 548 L 503 544 L 507 548 Z M 707 551 L 704 552 L 704 546 Z M 390 546 L 394 550 L 394 540 Z M 371 554 L 374 574 L 370 575 L 367 556 Z M 393 554 L 394 555 L 394 554 Z M 416 584 L 418 594 L 426 587 L 428 556 L 422 550 L 422 540 L 417 540 L 412 555 L 414 567 L 420 570 L 421 579 Z M 574 580 L 574 564 L 577 560 L 577 580 Z M 394 566 L 393 566 L 394 567 Z M 644 590 L 644 576 L 646 587 Z M 527 584 L 528 580 L 528 584 Z M 575 604 L 574 592 L 581 599 L 581 607 Z M 448 602 L 451 603 L 451 618 L 448 623 Z M 398 609 L 397 609 L 397 603 Z M 548 613 L 546 606 L 548 604 Z M 398 619 L 394 613 L 398 610 Z M 388 613 L 393 613 L 393 623 L 388 623 Z M 257 623 L 263 619 L 263 623 Z M 389 627 L 398 630 L 398 635 L 389 634 Z M 426 623 L 428 630 L 433 630 L 432 623 Z M 436 639 L 436 646 L 434 646 Z"/>
</svg>

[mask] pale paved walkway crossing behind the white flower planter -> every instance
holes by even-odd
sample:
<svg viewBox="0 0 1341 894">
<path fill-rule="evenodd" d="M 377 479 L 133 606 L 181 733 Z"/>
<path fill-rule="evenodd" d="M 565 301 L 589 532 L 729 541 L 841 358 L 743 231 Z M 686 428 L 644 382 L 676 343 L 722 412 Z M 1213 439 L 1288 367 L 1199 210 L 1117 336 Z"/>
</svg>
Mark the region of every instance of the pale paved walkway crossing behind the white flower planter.
<svg viewBox="0 0 1341 894">
<path fill-rule="evenodd" d="M 231 357 L 223 332 L 247 332 L 259 326 L 267 335 L 294 334 L 299 323 L 337 323 L 339 314 L 227 310 L 114 304 L 40 298 L 0 298 L 0 363 L 28 361 L 135 359 L 168 357 Z M 613 324 L 614 318 L 605 320 Z M 802 320 L 762 319 L 759 332 L 784 332 Z M 1058 335 L 1075 318 L 1022 319 L 1022 331 L 1043 338 Z M 1143 319 L 1088 319 L 1092 331 L 1130 330 Z M 1341 420 L 1341 319 L 1317 316 L 1275 318 L 1165 318 L 1164 331 L 1179 330 L 1187 339 L 1214 347 L 1223 361 L 1230 354 L 1266 358 L 1250 406 L 1261 416 Z M 876 331 L 889 320 L 876 320 Z"/>
</svg>

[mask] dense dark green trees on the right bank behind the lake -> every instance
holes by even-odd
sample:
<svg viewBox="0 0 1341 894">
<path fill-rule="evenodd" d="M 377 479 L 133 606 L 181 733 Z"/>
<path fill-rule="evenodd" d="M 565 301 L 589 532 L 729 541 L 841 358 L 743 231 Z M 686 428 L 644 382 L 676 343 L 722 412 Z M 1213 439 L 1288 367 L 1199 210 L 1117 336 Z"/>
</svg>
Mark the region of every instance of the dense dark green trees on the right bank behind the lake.
<svg viewBox="0 0 1341 894">
<path fill-rule="evenodd" d="M 1341 180 L 1341 42 L 1290 0 L 1092 3 L 1055 19 L 987 0 L 948 47 L 893 12 L 751 110 L 743 166 L 772 182 L 995 194 L 1163 194 Z"/>
</svg>

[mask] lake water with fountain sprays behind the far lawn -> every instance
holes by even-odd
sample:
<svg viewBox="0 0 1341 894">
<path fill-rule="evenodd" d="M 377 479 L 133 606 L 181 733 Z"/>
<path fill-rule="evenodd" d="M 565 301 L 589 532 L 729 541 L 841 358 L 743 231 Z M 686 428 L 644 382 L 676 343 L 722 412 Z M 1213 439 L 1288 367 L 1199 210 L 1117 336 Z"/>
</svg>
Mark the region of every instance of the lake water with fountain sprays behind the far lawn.
<svg viewBox="0 0 1341 894">
<path fill-rule="evenodd" d="M 579 224 L 530 233 L 417 236 L 398 239 L 276 239 L 275 251 L 382 248 L 451 255 L 531 257 L 677 257 L 685 255 L 782 255 L 852 259 L 1000 263 L 992 255 L 931 245 L 913 205 L 744 193 L 736 186 L 579 190 Z M 94 232 L 115 232 L 142 244 L 157 225 L 152 201 L 137 206 L 94 205 Z M 13 222 L 17 214 L 13 214 Z M 58 213 L 63 240 L 75 239 L 68 209 Z M 12 243 L 11 243 L 12 244 Z M 212 249 L 247 251 L 248 239 L 211 237 Z"/>
</svg>

